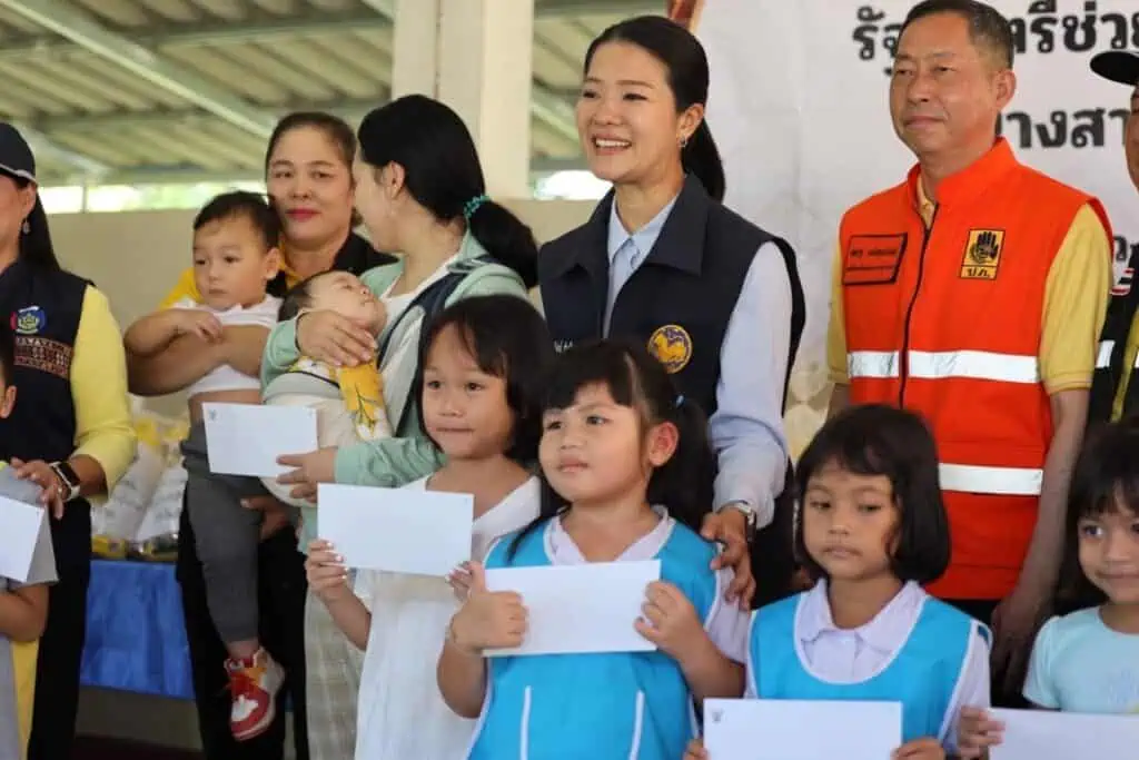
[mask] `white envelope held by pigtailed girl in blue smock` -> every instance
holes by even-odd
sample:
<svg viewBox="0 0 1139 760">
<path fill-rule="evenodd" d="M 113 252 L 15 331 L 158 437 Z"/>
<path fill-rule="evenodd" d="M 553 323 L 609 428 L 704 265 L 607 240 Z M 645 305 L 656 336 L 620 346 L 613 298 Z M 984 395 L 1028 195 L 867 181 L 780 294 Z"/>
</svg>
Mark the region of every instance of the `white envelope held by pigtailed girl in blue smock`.
<svg viewBox="0 0 1139 760">
<path fill-rule="evenodd" d="M 633 623 L 646 588 L 659 578 L 659 559 L 487 570 L 491 591 L 522 596 L 528 629 L 522 646 L 486 656 L 650 652 L 656 645 Z"/>
</svg>

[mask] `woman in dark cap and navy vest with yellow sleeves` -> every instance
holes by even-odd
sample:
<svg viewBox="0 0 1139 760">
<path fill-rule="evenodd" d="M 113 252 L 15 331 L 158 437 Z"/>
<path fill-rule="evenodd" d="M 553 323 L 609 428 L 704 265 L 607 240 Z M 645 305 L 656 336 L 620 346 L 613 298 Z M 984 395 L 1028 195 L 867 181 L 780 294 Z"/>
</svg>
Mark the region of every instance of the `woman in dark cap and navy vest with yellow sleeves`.
<svg viewBox="0 0 1139 760">
<path fill-rule="evenodd" d="M 91 507 L 134 458 L 126 365 L 106 296 L 60 268 L 35 158 L 0 123 L 0 319 L 16 333 L 13 414 L 0 459 L 43 489 L 59 582 L 39 643 L 30 760 L 69 758 L 91 579 Z"/>
</svg>

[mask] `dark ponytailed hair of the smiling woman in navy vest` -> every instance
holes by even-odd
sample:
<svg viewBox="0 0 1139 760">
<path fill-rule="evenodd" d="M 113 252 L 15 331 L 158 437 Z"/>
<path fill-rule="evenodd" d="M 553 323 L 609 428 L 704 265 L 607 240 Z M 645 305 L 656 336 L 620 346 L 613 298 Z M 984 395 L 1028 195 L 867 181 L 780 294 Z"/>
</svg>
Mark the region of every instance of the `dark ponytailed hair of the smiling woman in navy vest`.
<svg viewBox="0 0 1139 760">
<path fill-rule="evenodd" d="M 638 16 L 614 24 L 590 42 L 585 51 L 587 73 L 597 49 L 612 42 L 634 44 L 664 64 L 669 70 L 669 87 L 677 101 L 678 114 L 695 104 L 707 105 L 707 56 L 699 40 L 680 24 L 664 16 Z M 700 120 L 700 125 L 681 149 L 680 162 L 686 172 L 700 181 L 708 195 L 723 201 L 723 163 L 707 120 Z"/>
</svg>

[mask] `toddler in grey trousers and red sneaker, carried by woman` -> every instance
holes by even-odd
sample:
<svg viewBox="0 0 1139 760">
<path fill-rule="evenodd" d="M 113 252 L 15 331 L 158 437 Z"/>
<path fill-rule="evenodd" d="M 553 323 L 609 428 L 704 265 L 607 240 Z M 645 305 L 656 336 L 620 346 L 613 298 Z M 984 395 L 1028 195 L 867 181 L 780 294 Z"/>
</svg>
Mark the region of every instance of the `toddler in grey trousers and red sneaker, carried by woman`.
<svg viewBox="0 0 1139 760">
<path fill-rule="evenodd" d="M 140 357 L 165 351 L 174 338 L 198 334 L 221 341 L 231 329 L 260 330 L 277 324 L 280 300 L 265 294 L 280 269 L 279 219 L 253 193 L 227 193 L 207 203 L 194 220 L 194 279 L 203 303 L 185 299 L 134 322 L 128 350 Z M 257 636 L 257 544 L 261 513 L 241 499 L 265 493 L 253 477 L 210 471 L 202 404 L 261 403 L 257 367 L 223 363 L 189 389 L 190 434 L 182 442 L 188 474 L 186 508 L 197 540 L 210 614 L 226 648 L 233 706 L 233 738 L 253 738 L 269 728 L 285 678 Z"/>
</svg>

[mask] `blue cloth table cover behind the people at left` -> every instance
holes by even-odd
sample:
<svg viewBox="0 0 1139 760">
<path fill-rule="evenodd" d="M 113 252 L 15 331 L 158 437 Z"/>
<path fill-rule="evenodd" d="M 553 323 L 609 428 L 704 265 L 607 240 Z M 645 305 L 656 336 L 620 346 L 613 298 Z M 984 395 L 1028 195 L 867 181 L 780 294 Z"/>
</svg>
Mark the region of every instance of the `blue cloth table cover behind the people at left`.
<svg viewBox="0 0 1139 760">
<path fill-rule="evenodd" d="M 93 559 L 83 686 L 194 698 L 174 565 Z"/>
</svg>

